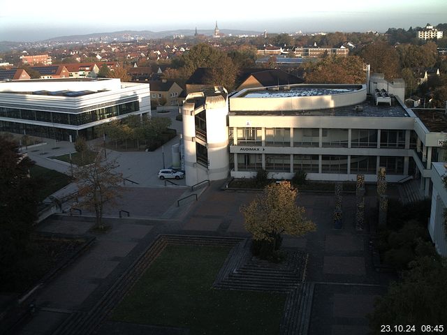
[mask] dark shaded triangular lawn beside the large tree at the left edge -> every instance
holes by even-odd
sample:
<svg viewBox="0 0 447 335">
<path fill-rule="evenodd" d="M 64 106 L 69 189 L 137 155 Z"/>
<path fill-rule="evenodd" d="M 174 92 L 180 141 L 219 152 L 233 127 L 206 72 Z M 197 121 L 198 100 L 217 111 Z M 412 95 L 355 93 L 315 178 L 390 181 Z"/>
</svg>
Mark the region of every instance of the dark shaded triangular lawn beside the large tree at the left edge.
<svg viewBox="0 0 447 335">
<path fill-rule="evenodd" d="M 34 165 L 30 169 L 29 174 L 31 178 L 41 181 L 41 187 L 38 189 L 39 201 L 43 201 L 48 195 L 52 195 L 52 193 L 71 183 L 71 177 L 66 174 L 43 168 L 39 165 Z"/>
</svg>

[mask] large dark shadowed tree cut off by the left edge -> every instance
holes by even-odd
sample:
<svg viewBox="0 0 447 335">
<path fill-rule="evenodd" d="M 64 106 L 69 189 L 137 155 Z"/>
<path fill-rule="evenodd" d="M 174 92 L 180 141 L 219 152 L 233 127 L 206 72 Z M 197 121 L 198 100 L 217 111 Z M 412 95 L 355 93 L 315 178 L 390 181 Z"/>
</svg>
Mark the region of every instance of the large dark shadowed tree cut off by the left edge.
<svg viewBox="0 0 447 335">
<path fill-rule="evenodd" d="M 34 163 L 19 153 L 17 144 L 0 136 L 0 278 L 14 277 L 11 267 L 27 250 L 37 218 L 37 188 L 29 178 Z"/>
</svg>

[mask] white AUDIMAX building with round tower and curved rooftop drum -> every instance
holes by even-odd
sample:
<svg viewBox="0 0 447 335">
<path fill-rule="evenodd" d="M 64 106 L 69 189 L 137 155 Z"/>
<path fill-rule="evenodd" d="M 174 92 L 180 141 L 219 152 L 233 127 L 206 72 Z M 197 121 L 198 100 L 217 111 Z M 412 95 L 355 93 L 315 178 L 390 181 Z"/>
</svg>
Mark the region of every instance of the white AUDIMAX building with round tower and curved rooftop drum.
<svg viewBox="0 0 447 335">
<path fill-rule="evenodd" d="M 189 96 L 182 107 L 186 184 L 251 178 L 261 168 L 275 179 L 304 170 L 313 180 L 365 174 L 365 181 L 376 181 L 383 166 L 388 181 L 413 176 L 428 196 L 431 163 L 442 157 L 447 136 L 430 131 L 404 105 L 403 94 L 403 81 L 373 75 L 368 85 L 295 84 Z"/>
</svg>

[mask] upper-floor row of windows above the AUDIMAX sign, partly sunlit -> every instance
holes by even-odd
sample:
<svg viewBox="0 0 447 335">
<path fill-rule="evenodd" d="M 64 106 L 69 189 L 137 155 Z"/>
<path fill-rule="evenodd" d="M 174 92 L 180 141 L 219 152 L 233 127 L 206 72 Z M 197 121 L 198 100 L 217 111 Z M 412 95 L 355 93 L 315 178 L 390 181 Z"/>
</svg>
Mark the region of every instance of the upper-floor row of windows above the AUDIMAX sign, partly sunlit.
<svg viewBox="0 0 447 335">
<path fill-rule="evenodd" d="M 348 129 L 323 128 L 323 147 L 348 147 Z M 261 146 L 262 128 L 230 128 L 230 144 Z M 319 128 L 265 128 L 265 146 L 267 147 L 318 147 L 320 140 Z M 377 129 L 352 129 L 351 147 L 370 148 L 377 147 Z M 404 148 L 404 130 L 381 130 L 380 147 L 382 148 Z"/>
</svg>

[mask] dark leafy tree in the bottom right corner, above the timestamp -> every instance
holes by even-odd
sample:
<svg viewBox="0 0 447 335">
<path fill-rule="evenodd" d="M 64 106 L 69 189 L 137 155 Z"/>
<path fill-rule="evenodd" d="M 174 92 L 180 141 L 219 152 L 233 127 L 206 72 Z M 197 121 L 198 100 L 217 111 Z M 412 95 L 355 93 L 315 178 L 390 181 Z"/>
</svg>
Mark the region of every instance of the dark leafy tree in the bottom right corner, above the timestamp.
<svg viewBox="0 0 447 335">
<path fill-rule="evenodd" d="M 373 334 L 381 334 L 381 325 L 445 325 L 447 320 L 447 268 L 439 256 L 425 256 L 411 262 L 403 281 L 390 285 L 385 296 L 376 300 L 369 315 Z"/>
</svg>

